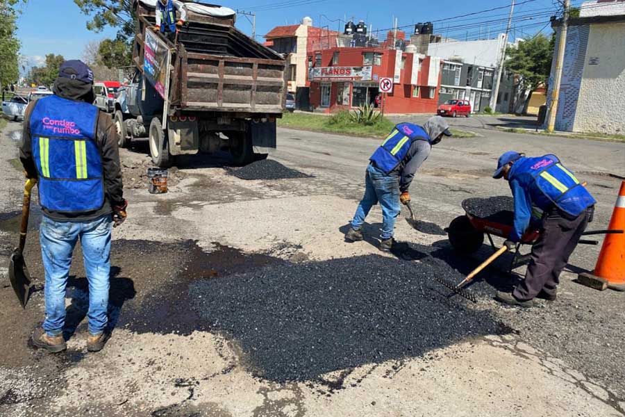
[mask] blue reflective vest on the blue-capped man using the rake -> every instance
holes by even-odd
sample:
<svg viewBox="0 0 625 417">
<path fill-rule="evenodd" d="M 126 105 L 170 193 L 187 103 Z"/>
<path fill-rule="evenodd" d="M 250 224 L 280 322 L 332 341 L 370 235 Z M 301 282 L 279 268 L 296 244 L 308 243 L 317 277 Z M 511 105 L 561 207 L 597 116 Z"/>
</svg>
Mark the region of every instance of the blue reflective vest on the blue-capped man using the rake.
<svg viewBox="0 0 625 417">
<path fill-rule="evenodd" d="M 530 195 L 542 193 L 560 210 L 578 216 L 596 203 L 594 197 L 581 185 L 573 172 L 567 170 L 555 155 L 537 158 L 521 158 L 510 171 L 510 180 L 519 174 L 528 173 L 534 179 Z M 547 207 L 540 207 L 543 211 Z"/>
</svg>

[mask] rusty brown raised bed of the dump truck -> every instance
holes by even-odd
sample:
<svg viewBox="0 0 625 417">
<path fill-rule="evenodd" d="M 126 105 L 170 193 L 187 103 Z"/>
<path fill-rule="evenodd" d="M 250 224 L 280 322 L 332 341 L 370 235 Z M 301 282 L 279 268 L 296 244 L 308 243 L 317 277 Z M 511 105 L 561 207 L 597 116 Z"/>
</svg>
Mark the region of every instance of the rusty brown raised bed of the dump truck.
<svg viewBox="0 0 625 417">
<path fill-rule="evenodd" d="M 141 1 L 137 11 L 133 59 L 143 71 L 146 31 L 156 33 L 156 19 L 154 9 Z M 168 95 L 172 111 L 228 112 L 237 117 L 283 113 L 286 60 L 233 25 L 233 16 L 188 11 L 177 43 L 156 33 L 172 50 Z"/>
</svg>

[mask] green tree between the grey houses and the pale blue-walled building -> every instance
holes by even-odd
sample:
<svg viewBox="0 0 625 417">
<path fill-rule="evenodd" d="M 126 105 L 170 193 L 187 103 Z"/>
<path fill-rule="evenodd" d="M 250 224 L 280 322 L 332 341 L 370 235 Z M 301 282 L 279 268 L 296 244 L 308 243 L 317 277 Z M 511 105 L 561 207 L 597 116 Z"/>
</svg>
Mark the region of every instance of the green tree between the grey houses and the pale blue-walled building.
<svg viewBox="0 0 625 417">
<path fill-rule="evenodd" d="M 518 75 L 517 88 L 522 90 L 520 97 L 523 97 L 519 100 L 523 104 L 520 113 L 526 113 L 531 95 L 538 87 L 547 87 L 552 57 L 553 42 L 542 34 L 508 48 L 505 66 L 508 71 Z"/>
</svg>

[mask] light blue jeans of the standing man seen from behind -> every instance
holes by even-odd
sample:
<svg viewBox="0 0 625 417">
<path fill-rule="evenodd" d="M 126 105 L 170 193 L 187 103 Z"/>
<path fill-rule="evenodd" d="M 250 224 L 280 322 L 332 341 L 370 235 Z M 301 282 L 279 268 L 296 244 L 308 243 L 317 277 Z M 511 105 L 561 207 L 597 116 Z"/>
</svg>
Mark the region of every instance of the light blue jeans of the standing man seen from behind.
<svg viewBox="0 0 625 417">
<path fill-rule="evenodd" d="M 63 333 L 65 286 L 78 238 L 89 281 L 89 333 L 97 335 L 106 329 L 112 224 L 110 215 L 88 222 L 57 222 L 43 216 L 40 227 L 41 254 L 46 271 L 46 320 L 43 329 L 48 336 Z"/>
</svg>

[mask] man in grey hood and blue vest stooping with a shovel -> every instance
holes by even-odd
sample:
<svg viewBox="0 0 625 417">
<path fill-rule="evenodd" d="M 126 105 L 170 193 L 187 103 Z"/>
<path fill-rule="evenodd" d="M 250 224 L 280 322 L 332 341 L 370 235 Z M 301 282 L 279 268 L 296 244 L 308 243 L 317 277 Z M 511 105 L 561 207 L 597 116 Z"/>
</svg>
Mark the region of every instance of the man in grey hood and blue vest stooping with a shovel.
<svg viewBox="0 0 625 417">
<path fill-rule="evenodd" d="M 382 234 L 380 250 L 390 252 L 394 243 L 395 218 L 401 209 L 399 202 L 408 204 L 408 188 L 415 172 L 428 158 L 432 145 L 443 136 L 451 136 L 449 125 L 440 116 L 431 117 L 426 124 L 417 126 L 400 123 L 395 126 L 382 145 L 369 158 L 365 173 L 365 196 L 358 204 L 345 238 L 351 242 L 363 240 L 363 223 L 372 206 L 382 207 Z"/>
</svg>

